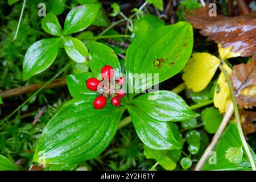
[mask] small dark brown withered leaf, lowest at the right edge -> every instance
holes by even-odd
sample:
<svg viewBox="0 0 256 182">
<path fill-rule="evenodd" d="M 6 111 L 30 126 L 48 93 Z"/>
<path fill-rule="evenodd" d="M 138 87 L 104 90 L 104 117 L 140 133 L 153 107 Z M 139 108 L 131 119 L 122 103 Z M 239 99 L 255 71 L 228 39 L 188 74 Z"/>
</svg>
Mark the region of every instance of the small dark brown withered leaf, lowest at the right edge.
<svg viewBox="0 0 256 182">
<path fill-rule="evenodd" d="M 256 112 L 254 111 L 239 111 L 243 134 L 247 135 L 256 132 L 256 125 L 253 123 L 256 121 Z"/>
</svg>

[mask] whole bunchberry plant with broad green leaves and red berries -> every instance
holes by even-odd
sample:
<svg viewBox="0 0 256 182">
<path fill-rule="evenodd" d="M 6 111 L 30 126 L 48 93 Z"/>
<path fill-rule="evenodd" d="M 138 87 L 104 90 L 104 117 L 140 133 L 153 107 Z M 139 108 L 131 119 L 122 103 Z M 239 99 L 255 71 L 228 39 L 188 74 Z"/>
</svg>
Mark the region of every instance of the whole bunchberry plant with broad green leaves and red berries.
<svg viewBox="0 0 256 182">
<path fill-rule="evenodd" d="M 155 150 L 181 149 L 183 142 L 178 142 L 179 139 L 174 137 L 169 122 L 192 119 L 199 114 L 189 109 L 175 93 L 166 90 L 146 94 L 138 92 L 142 93 L 153 84 L 179 73 L 191 55 L 192 44 L 192 27 L 185 22 L 147 30 L 145 34 L 137 36 L 137 41 L 127 49 L 125 60 L 127 86 L 133 85 L 135 92 L 127 92 L 125 97 L 110 93 L 114 97 L 110 100 L 112 104 L 108 104 L 106 98 L 109 93 L 92 91 L 98 84 L 96 79 L 90 82 L 92 77 L 98 77 L 101 73 L 102 81 L 107 78 L 115 81 L 116 78 L 118 81 L 115 81 L 115 85 L 118 86 L 126 84 L 123 83 L 126 80 L 121 75 L 121 65 L 113 49 L 102 43 L 92 43 L 89 51 L 92 72 L 67 77 L 73 100 L 48 122 L 36 147 L 34 162 L 75 164 L 95 158 L 113 139 L 126 109 L 139 138 L 147 147 Z M 155 61 L 158 60 L 160 65 L 157 66 Z M 135 73 L 150 73 L 157 75 L 158 79 L 154 80 L 153 76 L 146 77 L 146 80 L 133 80 L 129 74 Z M 146 83 L 146 86 L 142 83 Z M 122 91 L 119 94 L 124 96 Z M 39 155 L 42 151 L 43 156 Z"/>
</svg>

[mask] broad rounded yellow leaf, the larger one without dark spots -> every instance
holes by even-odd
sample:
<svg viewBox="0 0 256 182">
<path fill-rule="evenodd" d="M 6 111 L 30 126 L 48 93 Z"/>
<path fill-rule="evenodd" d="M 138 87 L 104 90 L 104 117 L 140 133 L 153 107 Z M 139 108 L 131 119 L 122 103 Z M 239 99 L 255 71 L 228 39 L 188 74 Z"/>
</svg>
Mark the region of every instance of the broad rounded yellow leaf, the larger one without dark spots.
<svg viewBox="0 0 256 182">
<path fill-rule="evenodd" d="M 209 53 L 193 53 L 183 69 L 183 80 L 193 92 L 204 90 L 216 72 L 220 60 Z"/>
</svg>

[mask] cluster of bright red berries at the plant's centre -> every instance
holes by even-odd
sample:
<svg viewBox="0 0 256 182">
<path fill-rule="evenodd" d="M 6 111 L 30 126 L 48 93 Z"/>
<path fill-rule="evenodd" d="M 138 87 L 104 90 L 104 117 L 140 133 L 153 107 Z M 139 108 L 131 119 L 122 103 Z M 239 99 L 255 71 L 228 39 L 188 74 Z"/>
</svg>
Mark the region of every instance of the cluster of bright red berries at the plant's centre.
<svg viewBox="0 0 256 182">
<path fill-rule="evenodd" d="M 125 83 L 125 78 L 119 77 L 115 79 L 114 69 L 110 65 L 105 65 L 101 69 L 101 77 L 102 81 L 93 77 L 86 81 L 86 86 L 89 90 L 99 93 L 99 96 L 93 102 L 93 108 L 102 109 L 106 106 L 108 98 L 111 98 L 111 103 L 114 106 L 119 107 L 120 98 L 125 97 L 125 91 L 121 89 Z"/>
</svg>

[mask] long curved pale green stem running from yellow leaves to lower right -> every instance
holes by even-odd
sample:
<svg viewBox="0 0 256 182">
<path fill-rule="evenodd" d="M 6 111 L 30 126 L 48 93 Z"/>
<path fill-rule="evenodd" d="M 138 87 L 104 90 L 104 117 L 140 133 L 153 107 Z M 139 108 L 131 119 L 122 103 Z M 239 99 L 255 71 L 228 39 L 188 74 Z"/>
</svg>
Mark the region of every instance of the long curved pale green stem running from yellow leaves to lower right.
<svg viewBox="0 0 256 182">
<path fill-rule="evenodd" d="M 232 100 L 232 103 L 233 103 L 233 107 L 234 107 L 234 115 L 235 115 L 236 121 L 237 121 L 238 133 L 239 133 L 240 138 L 242 140 L 242 144 L 243 144 L 243 147 L 245 148 L 246 154 L 247 154 L 247 156 L 248 156 L 248 158 L 250 160 L 251 168 L 253 169 L 253 171 L 256 171 L 255 163 L 254 163 L 254 160 L 253 160 L 253 156 L 251 155 L 250 149 L 249 149 L 248 144 L 247 144 L 247 142 L 245 140 L 245 136 L 243 135 L 241 121 L 240 121 L 240 116 L 239 116 L 239 113 L 238 113 L 236 97 L 234 96 L 234 93 L 233 93 L 232 84 L 231 84 L 231 82 L 229 80 L 228 73 L 226 73 L 226 71 L 225 71 L 225 69 L 223 68 L 222 65 L 220 65 L 220 69 L 221 69 L 221 72 L 224 74 L 224 76 L 226 78 L 226 81 L 228 82 L 228 85 L 229 85 L 230 97 L 231 97 L 231 100 Z"/>
</svg>

